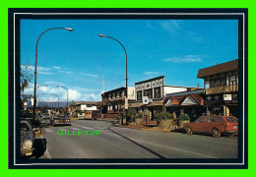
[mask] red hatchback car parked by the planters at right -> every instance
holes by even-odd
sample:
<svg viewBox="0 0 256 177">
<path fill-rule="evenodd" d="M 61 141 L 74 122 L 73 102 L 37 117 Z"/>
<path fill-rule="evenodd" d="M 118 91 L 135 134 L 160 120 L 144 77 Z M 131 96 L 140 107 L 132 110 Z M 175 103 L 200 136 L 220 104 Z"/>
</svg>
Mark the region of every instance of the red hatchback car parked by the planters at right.
<svg viewBox="0 0 256 177">
<path fill-rule="evenodd" d="M 210 133 L 214 137 L 220 137 L 221 134 L 231 137 L 238 133 L 238 119 L 224 115 L 201 116 L 195 122 L 185 123 L 184 129 L 187 134 L 200 132 Z"/>
</svg>

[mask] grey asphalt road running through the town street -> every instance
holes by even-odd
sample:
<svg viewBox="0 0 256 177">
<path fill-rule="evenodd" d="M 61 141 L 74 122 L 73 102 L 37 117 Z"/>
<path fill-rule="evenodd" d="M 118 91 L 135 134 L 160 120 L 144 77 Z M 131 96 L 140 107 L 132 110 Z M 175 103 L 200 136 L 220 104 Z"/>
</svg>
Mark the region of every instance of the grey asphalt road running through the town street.
<svg viewBox="0 0 256 177">
<path fill-rule="evenodd" d="M 45 121 L 46 151 L 39 158 L 237 158 L 237 138 L 114 127 L 105 121 L 73 120 L 52 127 Z M 69 131 L 75 135 L 57 135 Z M 78 131 L 99 135 L 78 136 Z M 59 133 L 62 133 L 59 132 Z M 67 134 L 67 132 L 66 132 Z"/>
</svg>

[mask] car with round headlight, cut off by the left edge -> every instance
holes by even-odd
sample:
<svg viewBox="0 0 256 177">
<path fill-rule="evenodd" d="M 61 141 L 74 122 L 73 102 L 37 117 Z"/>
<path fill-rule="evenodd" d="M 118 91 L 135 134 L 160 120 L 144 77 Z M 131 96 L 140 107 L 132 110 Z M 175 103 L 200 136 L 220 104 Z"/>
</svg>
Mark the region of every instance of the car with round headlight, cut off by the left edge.
<svg viewBox="0 0 256 177">
<path fill-rule="evenodd" d="M 21 155 L 32 155 L 34 145 L 34 132 L 30 121 L 21 121 Z"/>
</svg>

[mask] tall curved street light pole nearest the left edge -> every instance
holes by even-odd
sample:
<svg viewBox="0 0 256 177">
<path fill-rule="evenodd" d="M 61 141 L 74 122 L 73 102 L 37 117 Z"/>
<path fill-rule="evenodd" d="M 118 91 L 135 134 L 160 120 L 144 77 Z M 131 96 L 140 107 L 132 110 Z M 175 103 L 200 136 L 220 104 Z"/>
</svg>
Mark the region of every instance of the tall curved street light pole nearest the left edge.
<svg viewBox="0 0 256 177">
<path fill-rule="evenodd" d="M 51 28 L 51 29 L 46 29 L 44 30 L 39 37 L 37 38 L 36 41 L 36 45 L 35 45 L 35 65 L 34 65 L 34 86 L 33 86 L 33 121 L 35 121 L 35 110 L 36 110 L 36 68 L 37 68 L 37 46 L 38 46 L 38 42 L 39 39 L 41 37 L 41 35 L 43 35 L 46 31 L 52 30 L 52 29 L 66 29 L 69 31 L 73 31 L 74 29 L 70 29 L 70 28 Z"/>
</svg>

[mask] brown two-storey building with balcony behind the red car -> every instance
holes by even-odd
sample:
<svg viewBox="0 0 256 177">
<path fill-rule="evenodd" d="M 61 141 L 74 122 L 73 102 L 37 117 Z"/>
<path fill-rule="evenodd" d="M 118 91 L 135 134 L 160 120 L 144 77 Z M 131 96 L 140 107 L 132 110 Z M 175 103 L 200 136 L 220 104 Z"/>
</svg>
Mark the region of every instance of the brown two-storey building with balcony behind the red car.
<svg viewBox="0 0 256 177">
<path fill-rule="evenodd" d="M 208 113 L 238 116 L 238 59 L 198 71 L 204 80 Z"/>
</svg>

